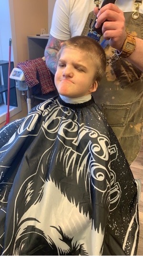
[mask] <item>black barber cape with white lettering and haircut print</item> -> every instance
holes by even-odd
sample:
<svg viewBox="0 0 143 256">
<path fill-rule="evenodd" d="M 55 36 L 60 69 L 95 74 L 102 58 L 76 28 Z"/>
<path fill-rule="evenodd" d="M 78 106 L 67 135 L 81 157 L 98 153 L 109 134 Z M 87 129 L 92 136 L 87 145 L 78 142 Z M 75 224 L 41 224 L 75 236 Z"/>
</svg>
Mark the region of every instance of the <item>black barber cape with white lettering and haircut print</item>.
<svg viewBox="0 0 143 256">
<path fill-rule="evenodd" d="M 93 98 L 0 130 L 1 255 L 135 255 L 137 188 Z"/>
</svg>

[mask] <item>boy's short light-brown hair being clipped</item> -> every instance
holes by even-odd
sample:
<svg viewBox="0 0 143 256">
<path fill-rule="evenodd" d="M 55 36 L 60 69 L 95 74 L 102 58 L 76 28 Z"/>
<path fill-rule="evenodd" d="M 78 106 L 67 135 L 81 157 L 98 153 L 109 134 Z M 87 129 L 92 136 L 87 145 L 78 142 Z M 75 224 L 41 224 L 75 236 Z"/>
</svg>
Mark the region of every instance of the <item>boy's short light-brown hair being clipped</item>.
<svg viewBox="0 0 143 256">
<path fill-rule="evenodd" d="M 65 41 L 61 45 L 61 49 L 57 54 L 57 63 L 61 57 L 64 48 L 80 49 L 90 56 L 95 67 L 94 81 L 101 81 L 106 70 L 106 55 L 100 44 L 88 36 L 74 36 Z"/>
</svg>

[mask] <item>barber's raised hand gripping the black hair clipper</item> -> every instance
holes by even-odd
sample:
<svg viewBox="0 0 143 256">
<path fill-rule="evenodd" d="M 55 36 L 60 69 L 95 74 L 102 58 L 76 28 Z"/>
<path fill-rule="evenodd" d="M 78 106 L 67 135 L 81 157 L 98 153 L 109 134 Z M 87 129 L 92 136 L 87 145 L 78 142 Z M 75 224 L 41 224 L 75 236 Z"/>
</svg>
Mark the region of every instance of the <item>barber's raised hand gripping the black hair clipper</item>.
<svg viewBox="0 0 143 256">
<path fill-rule="evenodd" d="M 95 7 L 94 13 L 97 15 L 95 27 L 99 28 L 103 23 L 103 37 L 109 40 L 113 48 L 121 51 L 127 36 L 123 12 L 115 4 L 109 3 L 104 5 L 100 11 Z"/>
</svg>

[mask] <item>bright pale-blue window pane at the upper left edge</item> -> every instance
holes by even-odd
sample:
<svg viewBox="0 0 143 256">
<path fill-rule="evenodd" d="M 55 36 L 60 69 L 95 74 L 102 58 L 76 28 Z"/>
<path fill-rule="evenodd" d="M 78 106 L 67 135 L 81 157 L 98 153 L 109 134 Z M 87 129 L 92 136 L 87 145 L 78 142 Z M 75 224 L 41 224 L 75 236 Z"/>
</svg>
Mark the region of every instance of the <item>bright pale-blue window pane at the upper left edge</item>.
<svg viewBox="0 0 143 256">
<path fill-rule="evenodd" d="M 9 0 L 0 0 L 0 60 L 9 60 L 9 39 L 11 38 Z M 13 48 L 11 46 L 11 61 Z"/>
</svg>

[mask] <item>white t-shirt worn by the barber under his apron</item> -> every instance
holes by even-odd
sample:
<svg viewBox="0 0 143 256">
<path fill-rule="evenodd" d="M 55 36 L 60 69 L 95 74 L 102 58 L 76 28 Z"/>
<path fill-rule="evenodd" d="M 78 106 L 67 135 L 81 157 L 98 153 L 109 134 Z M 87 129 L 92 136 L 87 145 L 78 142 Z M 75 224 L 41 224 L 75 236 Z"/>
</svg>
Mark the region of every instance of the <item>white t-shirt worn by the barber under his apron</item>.
<svg viewBox="0 0 143 256">
<path fill-rule="evenodd" d="M 116 0 L 115 4 L 123 12 L 135 11 L 134 0 Z M 60 40 L 81 35 L 88 14 L 94 7 L 96 5 L 93 0 L 56 0 L 50 34 Z M 143 13 L 143 3 L 139 12 Z"/>
</svg>

